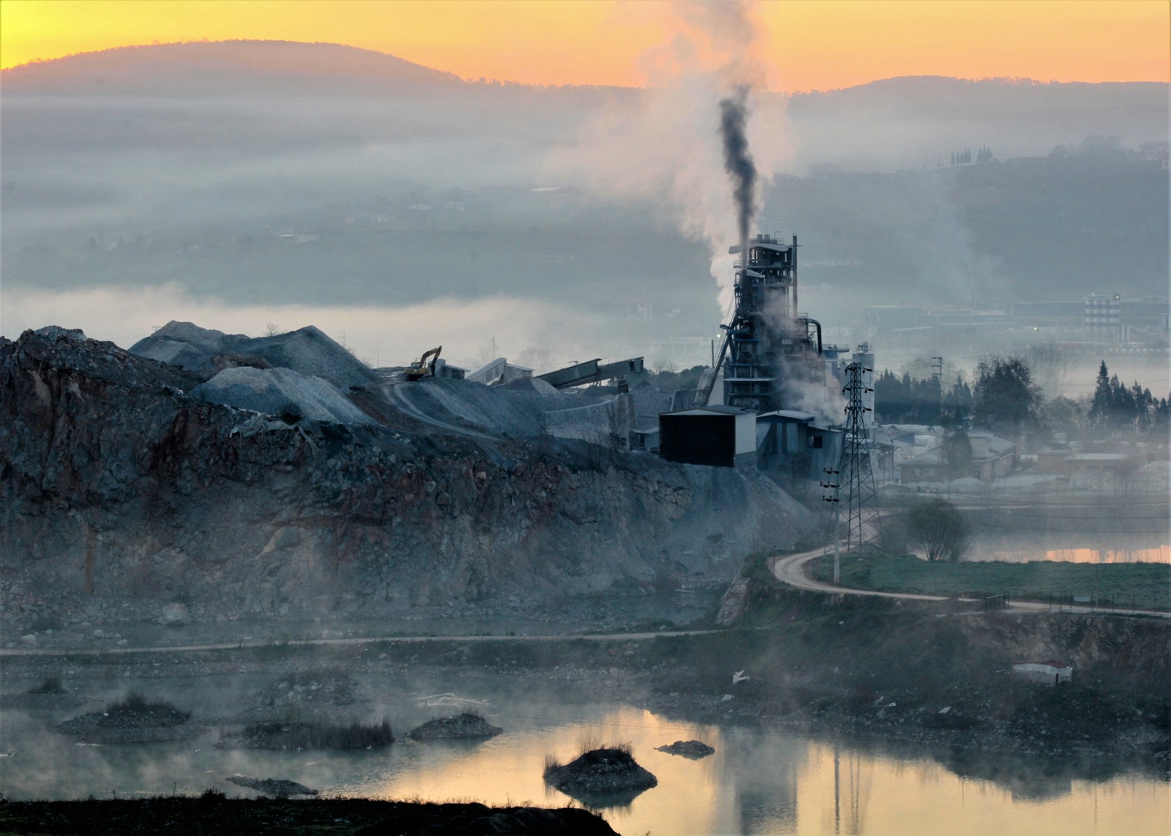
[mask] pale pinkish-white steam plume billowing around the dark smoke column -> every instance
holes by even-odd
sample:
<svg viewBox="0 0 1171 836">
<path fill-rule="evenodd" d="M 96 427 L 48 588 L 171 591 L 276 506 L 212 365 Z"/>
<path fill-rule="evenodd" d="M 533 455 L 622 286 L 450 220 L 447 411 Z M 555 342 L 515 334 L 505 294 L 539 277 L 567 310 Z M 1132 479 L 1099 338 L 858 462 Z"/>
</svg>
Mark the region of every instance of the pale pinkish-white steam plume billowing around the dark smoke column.
<svg viewBox="0 0 1171 836">
<path fill-rule="evenodd" d="M 550 173 L 584 176 L 602 192 L 666 198 L 684 234 L 707 245 L 727 310 L 733 285 L 727 248 L 740 241 L 745 204 L 735 200 L 725 169 L 720 103 L 742 102 L 744 138 L 762 178 L 792 156 L 783 104 L 779 95 L 763 95 L 768 62 L 754 2 L 673 2 L 670 9 L 671 39 L 641 61 L 646 89 L 587 125 L 577 146 L 554 155 Z"/>
</svg>

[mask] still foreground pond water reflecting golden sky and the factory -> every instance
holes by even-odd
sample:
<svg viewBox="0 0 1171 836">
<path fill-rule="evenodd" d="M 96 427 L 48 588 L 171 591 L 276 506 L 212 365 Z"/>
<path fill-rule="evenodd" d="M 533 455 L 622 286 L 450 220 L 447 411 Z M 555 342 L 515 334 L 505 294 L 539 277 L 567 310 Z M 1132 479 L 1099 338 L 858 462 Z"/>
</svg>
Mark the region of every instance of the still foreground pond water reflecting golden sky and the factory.
<svg viewBox="0 0 1171 836">
<path fill-rule="evenodd" d="M 238 680 L 210 679 L 219 680 L 210 688 L 219 693 L 208 691 L 196 705 L 252 691 Z M 186 693 L 182 701 L 192 703 L 190 680 L 167 680 L 170 686 L 123 681 L 152 693 Z M 1171 823 L 1167 784 L 1153 777 L 1039 779 L 1046 770 L 1030 762 L 1023 770 L 1029 777 L 992 782 L 958 776 L 923 751 L 891 754 L 858 741 L 704 726 L 626 706 L 583 704 L 569 691 L 559 700 L 552 691 L 534 694 L 516 683 L 480 685 L 466 695 L 489 699 L 485 713 L 505 726 L 505 734 L 481 744 L 396 744 L 357 753 L 220 751 L 212 746 L 214 733 L 179 744 L 76 746 L 47 731 L 73 712 L 5 711 L 2 747 L 18 756 L 0 759 L 0 792 L 18 799 L 110 797 L 218 787 L 249 795 L 222 781 L 241 773 L 286 777 L 326 794 L 561 806 L 570 799 L 545 786 L 543 756 L 574 756 L 589 733 L 604 742 L 630 742 L 638 762 L 659 780 L 628 807 L 602 810 L 626 834 L 936 834 L 944 821 L 952 834 L 1076 834 L 1093 831 L 1095 811 L 1096 832 L 1165 832 Z M 409 707 L 392 690 L 381 691 L 389 701 L 372 711 L 392 710 L 399 731 L 434 712 Z M 655 751 L 691 738 L 710 742 L 715 754 L 687 760 Z"/>
</svg>

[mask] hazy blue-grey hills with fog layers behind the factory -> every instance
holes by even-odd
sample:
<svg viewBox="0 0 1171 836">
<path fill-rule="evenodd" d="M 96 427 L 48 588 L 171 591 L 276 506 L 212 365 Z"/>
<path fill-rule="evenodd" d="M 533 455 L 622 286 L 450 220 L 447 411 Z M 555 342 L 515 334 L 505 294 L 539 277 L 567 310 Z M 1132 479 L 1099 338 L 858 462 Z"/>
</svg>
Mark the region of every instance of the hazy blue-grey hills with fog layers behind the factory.
<svg viewBox="0 0 1171 836">
<path fill-rule="evenodd" d="M 707 228 L 731 218 L 718 91 L 660 81 L 465 82 L 278 42 L 5 70 L 5 315 L 36 318 L 14 294 L 118 286 L 244 308 L 504 295 L 701 342 L 720 315 L 714 238 L 732 234 Z M 807 309 L 827 322 L 1160 294 L 1166 170 L 1139 146 L 1167 138 L 1165 94 L 931 77 L 761 92 L 758 224 L 801 237 L 802 283 L 822 288 Z M 984 148 L 992 162 L 952 165 Z"/>
</svg>

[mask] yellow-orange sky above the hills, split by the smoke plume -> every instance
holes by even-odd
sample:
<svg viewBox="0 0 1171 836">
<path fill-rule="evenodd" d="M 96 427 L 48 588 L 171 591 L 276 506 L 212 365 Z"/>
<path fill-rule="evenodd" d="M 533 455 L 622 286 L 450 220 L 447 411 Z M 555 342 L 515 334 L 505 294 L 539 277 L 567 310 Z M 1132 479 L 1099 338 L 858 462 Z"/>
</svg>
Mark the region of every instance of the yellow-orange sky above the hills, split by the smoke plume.
<svg viewBox="0 0 1171 836">
<path fill-rule="evenodd" d="M 1171 81 L 1165 0 L 765 0 L 771 85 L 897 75 Z M 0 0 L 0 66 L 237 37 L 333 41 L 468 78 L 639 84 L 666 0 Z"/>
</svg>

